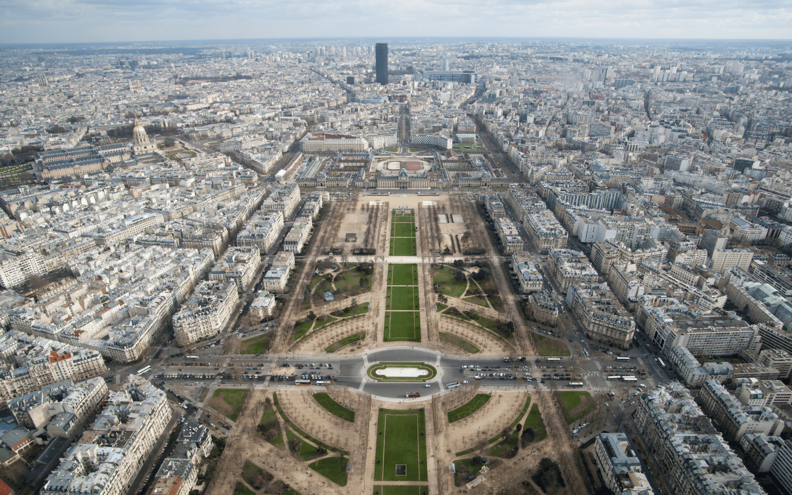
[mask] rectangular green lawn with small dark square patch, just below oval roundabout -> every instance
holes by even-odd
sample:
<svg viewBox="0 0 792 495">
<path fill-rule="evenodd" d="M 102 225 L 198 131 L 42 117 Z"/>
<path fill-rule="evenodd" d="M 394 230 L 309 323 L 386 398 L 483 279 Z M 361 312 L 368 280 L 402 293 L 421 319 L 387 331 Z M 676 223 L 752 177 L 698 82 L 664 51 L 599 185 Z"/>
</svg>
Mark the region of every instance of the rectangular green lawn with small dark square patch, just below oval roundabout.
<svg viewBox="0 0 792 495">
<path fill-rule="evenodd" d="M 374 480 L 428 481 L 424 409 L 380 409 L 377 429 Z M 404 475 L 396 475 L 397 464 L 406 465 Z"/>
</svg>

